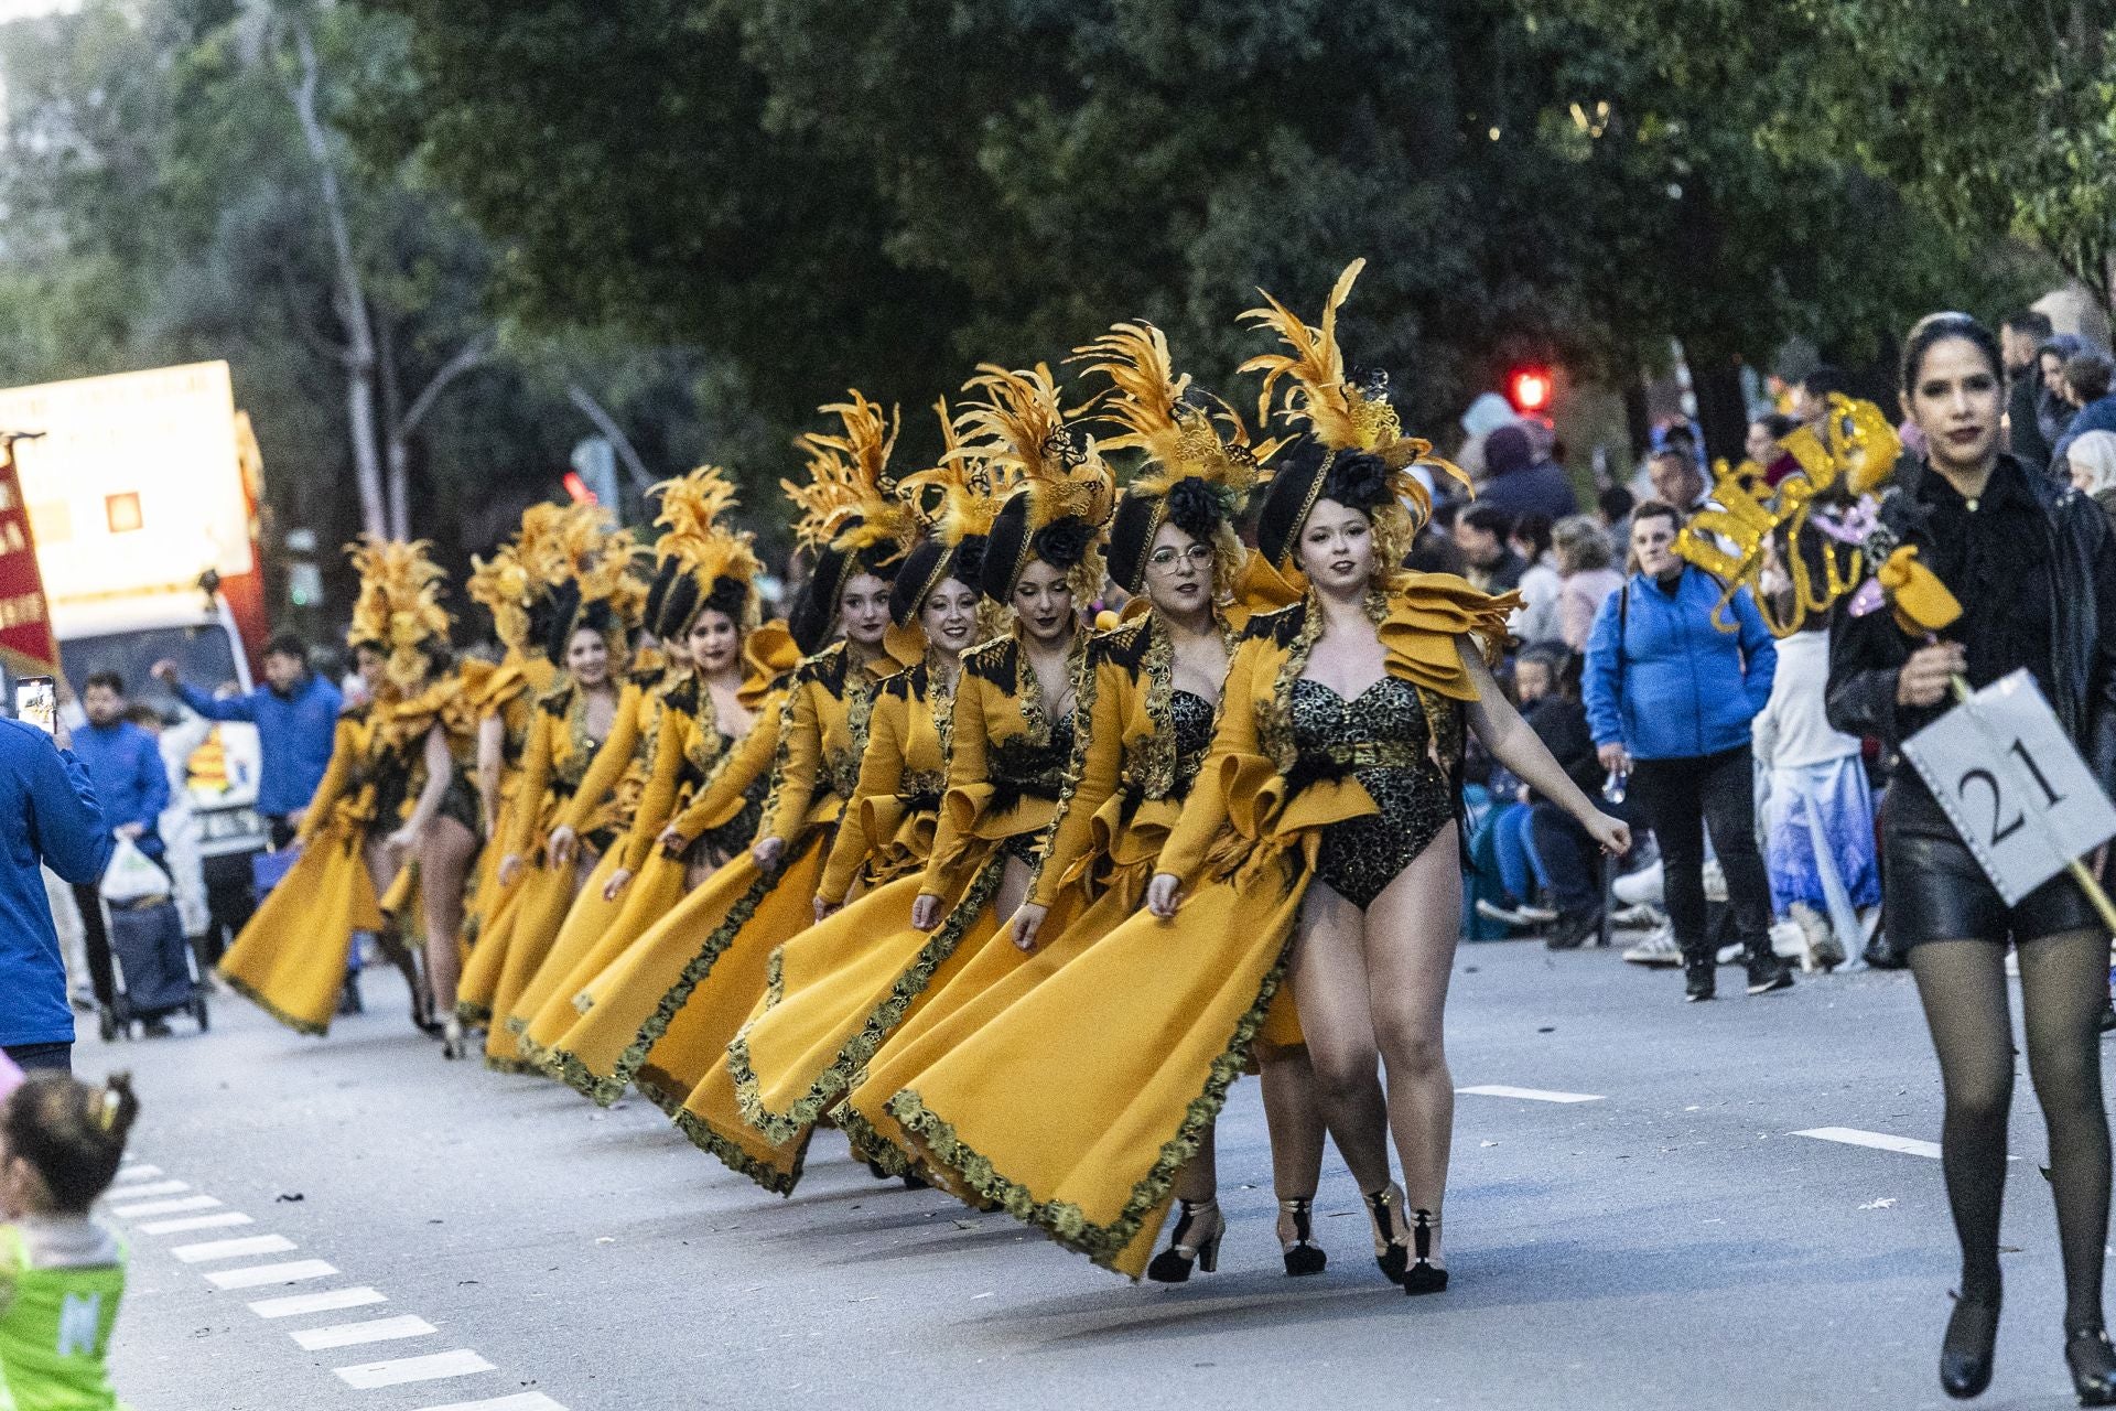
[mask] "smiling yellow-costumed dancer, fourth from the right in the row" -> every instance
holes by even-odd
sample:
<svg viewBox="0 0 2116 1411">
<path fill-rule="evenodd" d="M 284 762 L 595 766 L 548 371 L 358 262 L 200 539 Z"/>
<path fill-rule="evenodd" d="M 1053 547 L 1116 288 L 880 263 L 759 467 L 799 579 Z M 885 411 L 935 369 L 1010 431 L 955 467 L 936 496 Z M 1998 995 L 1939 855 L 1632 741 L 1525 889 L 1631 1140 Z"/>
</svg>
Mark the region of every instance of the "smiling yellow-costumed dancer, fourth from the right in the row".
<svg viewBox="0 0 2116 1411">
<path fill-rule="evenodd" d="M 764 996 L 675 1113 L 692 1142 L 768 1191 L 800 1180 L 817 1119 L 853 1077 L 840 1051 L 927 943 L 908 916 L 940 825 L 961 658 L 990 635 L 984 556 L 1011 487 L 1007 468 L 956 442 L 946 402 L 940 415 L 940 465 L 899 484 L 920 510 L 918 495 L 940 491 L 937 514 L 889 597 L 895 630 L 920 635 L 920 660 L 874 696 L 859 783 L 815 891 L 815 924 L 772 956 Z"/>
</svg>

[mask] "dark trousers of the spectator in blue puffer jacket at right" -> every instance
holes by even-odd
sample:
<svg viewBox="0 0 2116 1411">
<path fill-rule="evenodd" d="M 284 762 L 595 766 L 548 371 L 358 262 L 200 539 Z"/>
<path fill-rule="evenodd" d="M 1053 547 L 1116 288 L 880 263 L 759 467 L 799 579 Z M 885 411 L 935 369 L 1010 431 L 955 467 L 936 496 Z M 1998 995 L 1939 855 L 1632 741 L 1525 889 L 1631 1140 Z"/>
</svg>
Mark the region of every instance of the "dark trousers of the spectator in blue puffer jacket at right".
<svg viewBox="0 0 2116 1411">
<path fill-rule="evenodd" d="M 1771 948 L 1771 882 L 1756 850 L 1756 789 L 1748 745 L 1689 759 L 1638 759 L 1631 802 L 1661 842 L 1667 920 L 1689 965 L 1710 965 L 1705 829 L 1727 874 L 1735 935 L 1750 956 Z"/>
</svg>

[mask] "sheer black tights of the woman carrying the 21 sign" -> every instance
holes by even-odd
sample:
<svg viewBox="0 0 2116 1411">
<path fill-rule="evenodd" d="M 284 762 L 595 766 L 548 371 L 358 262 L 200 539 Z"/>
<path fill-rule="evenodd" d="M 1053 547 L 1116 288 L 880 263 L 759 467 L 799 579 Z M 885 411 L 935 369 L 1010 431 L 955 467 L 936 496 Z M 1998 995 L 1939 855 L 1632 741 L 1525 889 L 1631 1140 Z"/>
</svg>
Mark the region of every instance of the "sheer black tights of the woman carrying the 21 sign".
<svg viewBox="0 0 2116 1411">
<path fill-rule="evenodd" d="M 2063 931 L 2021 943 L 2027 1073 L 2050 1134 L 2050 1191 L 2065 1263 L 2065 1328 L 2101 1326 L 2101 1257 L 2110 1225 L 2110 1125 L 2101 1108 L 2101 1003 L 2108 937 Z M 1947 1119 L 1940 1168 L 1962 1240 L 1962 1293 L 1998 1295 L 1998 1221 L 2006 1195 L 2012 1108 L 2012 1015 L 2006 950 L 1928 941 L 1911 950 L 1917 996 L 1940 1058 Z"/>
</svg>

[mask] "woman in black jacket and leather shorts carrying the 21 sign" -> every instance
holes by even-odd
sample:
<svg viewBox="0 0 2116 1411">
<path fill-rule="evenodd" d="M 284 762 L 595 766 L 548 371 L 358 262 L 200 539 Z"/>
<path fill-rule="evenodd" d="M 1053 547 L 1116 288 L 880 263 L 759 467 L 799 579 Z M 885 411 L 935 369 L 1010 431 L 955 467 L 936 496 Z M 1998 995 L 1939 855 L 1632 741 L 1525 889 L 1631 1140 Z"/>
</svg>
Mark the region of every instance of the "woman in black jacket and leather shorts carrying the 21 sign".
<svg viewBox="0 0 2116 1411">
<path fill-rule="evenodd" d="M 1828 719 L 1890 747 L 1951 707 L 1951 681 L 1989 685 L 2027 671 L 2095 778 L 2116 781 L 2116 544 L 2108 516 L 2000 451 L 2006 379 L 1991 332 L 1959 313 L 1911 330 L 1902 410 L 1926 455 L 1881 506 L 1894 558 L 1915 550 L 1962 605 L 1930 633 L 1894 611 L 1837 613 Z M 1873 552 L 1875 539 L 1868 539 Z M 2082 888 L 2059 876 L 2019 901 L 1978 867 L 1915 770 L 1883 806 L 1890 941 L 1909 950 L 1940 1060 L 1940 1168 L 1962 1242 L 1962 1288 L 1940 1343 L 1940 1386 L 1976 1396 L 1991 1381 L 2000 1314 L 2000 1206 L 2014 1041 L 2006 946 L 2019 954 L 2027 1070 L 2050 1140 L 2050 1191 L 2065 1269 L 2065 1362 L 2080 1405 L 2116 1405 L 2116 1352 L 2101 1312 L 2110 1134 L 2101 1106 L 2099 1018 L 2108 933 Z"/>
</svg>

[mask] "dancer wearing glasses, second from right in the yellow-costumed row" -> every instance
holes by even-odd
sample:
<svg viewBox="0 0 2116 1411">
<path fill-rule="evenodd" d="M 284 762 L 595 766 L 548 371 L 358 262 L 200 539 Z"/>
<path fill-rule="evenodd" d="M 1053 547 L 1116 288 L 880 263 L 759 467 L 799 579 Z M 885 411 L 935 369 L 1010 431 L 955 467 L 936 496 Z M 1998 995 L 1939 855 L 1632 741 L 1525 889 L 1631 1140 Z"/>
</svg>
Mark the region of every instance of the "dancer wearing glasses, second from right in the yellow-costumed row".
<svg viewBox="0 0 2116 1411">
<path fill-rule="evenodd" d="M 1075 783 L 1058 802 L 1028 899 L 1009 927 L 1024 958 L 988 950 L 980 965 L 1009 973 L 927 1034 L 914 1060 L 923 1066 L 912 1070 L 906 1062 L 904 1077 L 889 1073 L 874 1083 L 876 1094 L 882 1083 L 899 1087 L 889 1094 L 887 1111 L 925 1168 L 969 1199 L 1016 1212 L 1060 1187 L 1081 1191 L 1115 1174 L 1098 1149 L 1111 1128 L 1124 1125 L 1121 1117 L 1054 1123 L 1052 1056 L 1115 1049 L 1111 1026 L 1153 1045 L 1191 1022 L 1176 977 L 1187 973 L 1196 984 L 1200 967 L 1170 954 L 1166 937 L 1128 946 L 1115 935 L 1136 916 L 1155 857 L 1198 787 L 1234 641 L 1251 616 L 1240 586 L 1267 578 L 1244 571 L 1246 554 L 1234 533 L 1257 480 L 1240 419 L 1229 408 L 1183 400 L 1187 379 L 1174 377 L 1166 341 L 1151 326 L 1117 326 L 1081 355 L 1098 360 L 1090 370 L 1117 387 L 1107 415 L 1126 434 L 1105 444 L 1136 446 L 1149 457 L 1117 501 L 1109 544 L 1109 573 L 1143 611 L 1128 609 L 1119 626 L 1098 633 L 1088 647 L 1077 711 L 1088 713 L 1090 728 L 1077 736 Z M 1282 603 L 1280 597 L 1270 605 Z M 1045 988 L 1058 977 L 1064 984 Z M 1079 996 L 1090 992 L 1107 996 L 1105 1003 L 1081 1005 Z M 1257 1041 L 1280 1197 L 1278 1238 L 1287 1273 L 1318 1273 L 1327 1259 L 1314 1242 L 1312 1202 L 1322 1117 L 1291 996 L 1280 998 L 1278 1022 Z M 1168 1043 L 1170 1051 L 1179 1047 Z M 1105 1115 L 1119 1113 L 1136 1094 L 1134 1079 L 1119 1081 L 1128 1092 L 1096 1089 L 1109 1098 Z M 1119 1176 L 1119 1191 L 1130 1185 L 1130 1176 Z M 1166 1191 L 1164 1183 L 1164 1204 Z M 1115 1261 L 1126 1273 L 1145 1267 L 1157 1282 L 1185 1282 L 1193 1269 L 1217 1267 L 1225 1221 L 1210 1121 L 1198 1130 L 1196 1153 L 1172 1193 L 1181 1216 L 1170 1246 L 1147 1263 L 1160 1229 L 1155 1212 L 1141 1223 L 1143 1238 Z"/>
</svg>

